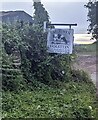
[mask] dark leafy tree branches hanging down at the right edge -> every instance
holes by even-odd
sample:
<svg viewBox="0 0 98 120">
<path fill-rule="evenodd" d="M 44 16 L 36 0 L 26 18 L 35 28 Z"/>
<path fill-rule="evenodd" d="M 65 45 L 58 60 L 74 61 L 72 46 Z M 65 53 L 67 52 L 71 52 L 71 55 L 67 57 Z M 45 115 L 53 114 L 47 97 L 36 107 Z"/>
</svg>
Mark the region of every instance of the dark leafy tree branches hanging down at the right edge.
<svg viewBox="0 0 98 120">
<path fill-rule="evenodd" d="M 88 2 L 85 5 L 88 8 L 88 20 L 90 22 L 88 31 L 92 33 L 93 38 L 98 40 L 98 2 Z"/>
</svg>

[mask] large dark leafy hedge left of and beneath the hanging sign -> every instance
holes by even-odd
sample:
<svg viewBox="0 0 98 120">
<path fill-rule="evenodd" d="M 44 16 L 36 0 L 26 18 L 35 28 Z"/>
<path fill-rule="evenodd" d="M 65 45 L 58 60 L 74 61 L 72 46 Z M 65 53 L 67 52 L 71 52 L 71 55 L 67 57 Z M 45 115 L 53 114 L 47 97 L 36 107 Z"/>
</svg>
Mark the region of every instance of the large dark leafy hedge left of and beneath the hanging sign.
<svg viewBox="0 0 98 120">
<path fill-rule="evenodd" d="M 19 67 L 27 83 L 34 85 L 34 80 L 52 85 L 57 81 L 71 79 L 71 56 L 47 53 L 47 33 L 39 26 L 19 23 L 15 26 L 3 26 L 3 44 L 8 56 L 19 52 L 21 65 Z M 14 32 L 13 32 L 14 31 Z"/>
</svg>

